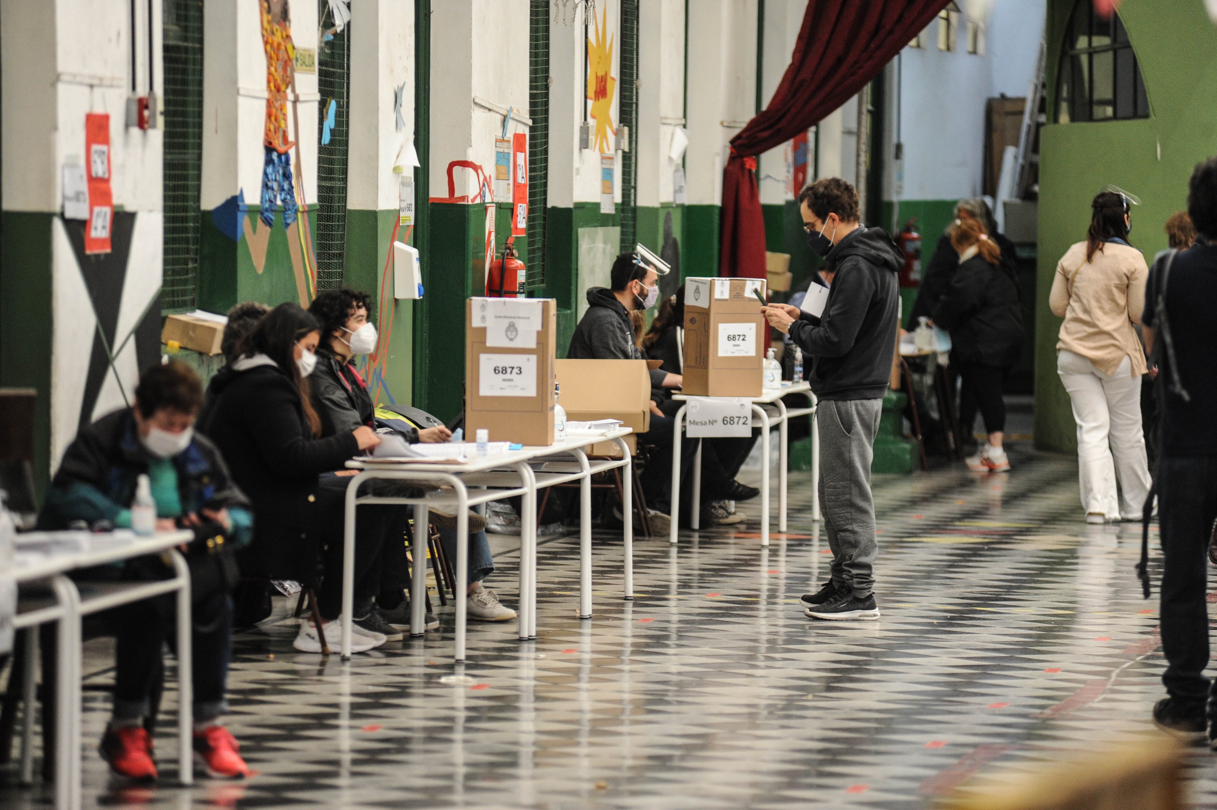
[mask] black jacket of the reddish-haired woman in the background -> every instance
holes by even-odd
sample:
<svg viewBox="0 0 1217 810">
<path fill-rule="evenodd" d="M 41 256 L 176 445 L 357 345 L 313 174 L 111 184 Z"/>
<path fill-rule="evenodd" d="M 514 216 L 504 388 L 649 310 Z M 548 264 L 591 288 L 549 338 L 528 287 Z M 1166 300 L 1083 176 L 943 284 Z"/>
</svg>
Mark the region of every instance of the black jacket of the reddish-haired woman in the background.
<svg viewBox="0 0 1217 810">
<path fill-rule="evenodd" d="M 1022 312 L 1014 270 L 978 255 L 959 264 L 933 323 L 950 333 L 952 354 L 970 363 L 1009 368 L 1022 347 Z"/>
</svg>

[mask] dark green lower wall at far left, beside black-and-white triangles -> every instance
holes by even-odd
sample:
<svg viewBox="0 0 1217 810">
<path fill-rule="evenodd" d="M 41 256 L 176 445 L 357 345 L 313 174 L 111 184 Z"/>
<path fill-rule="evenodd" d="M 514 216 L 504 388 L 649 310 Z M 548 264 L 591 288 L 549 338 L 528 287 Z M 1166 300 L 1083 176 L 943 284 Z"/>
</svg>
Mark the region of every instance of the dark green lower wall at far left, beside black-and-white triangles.
<svg viewBox="0 0 1217 810">
<path fill-rule="evenodd" d="M 0 386 L 38 391 L 34 484 L 39 501 L 50 477 L 54 219 L 54 213 L 0 213 Z"/>
</svg>

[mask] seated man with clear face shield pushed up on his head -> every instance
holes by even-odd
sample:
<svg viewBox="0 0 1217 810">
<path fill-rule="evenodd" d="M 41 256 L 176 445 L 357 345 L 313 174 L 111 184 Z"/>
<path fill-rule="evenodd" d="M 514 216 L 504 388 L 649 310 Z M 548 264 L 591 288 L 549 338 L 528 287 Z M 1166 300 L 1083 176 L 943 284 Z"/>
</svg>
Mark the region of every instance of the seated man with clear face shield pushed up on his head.
<svg viewBox="0 0 1217 810">
<path fill-rule="evenodd" d="M 590 287 L 588 290 L 588 311 L 583 314 L 571 346 L 566 352 L 570 359 L 646 359 L 643 350 L 634 342 L 634 326 L 629 313 L 634 309 L 650 309 L 660 300 L 658 262 L 650 262 L 639 251 L 622 253 L 613 262 L 610 272 L 611 287 Z M 662 268 L 666 272 L 666 268 Z M 658 402 L 666 398 L 666 391 L 680 387 L 680 375 L 654 369 L 651 373 L 651 429 L 639 435 L 640 441 L 658 448 L 651 453 L 650 463 L 643 470 L 643 492 L 650 510 L 651 531 L 666 535 L 669 529 L 672 510 L 671 453 L 674 436 L 673 420 L 664 417 Z M 692 456 L 692 445 L 685 440 L 682 459 Z M 664 460 L 664 458 L 667 460 Z M 688 469 L 686 469 L 688 468 Z M 682 480 L 691 470 L 688 463 L 682 463 Z"/>
</svg>

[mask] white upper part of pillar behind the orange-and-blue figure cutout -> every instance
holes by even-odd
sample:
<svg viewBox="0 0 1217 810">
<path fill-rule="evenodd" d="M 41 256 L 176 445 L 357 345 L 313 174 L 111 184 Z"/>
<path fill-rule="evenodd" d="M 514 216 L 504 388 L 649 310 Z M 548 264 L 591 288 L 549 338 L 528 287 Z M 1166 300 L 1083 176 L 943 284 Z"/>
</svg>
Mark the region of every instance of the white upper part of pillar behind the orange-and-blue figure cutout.
<svg viewBox="0 0 1217 810">
<path fill-rule="evenodd" d="M 318 46 L 315 2 L 293 2 L 292 43 Z M 204 0 L 203 4 L 203 175 L 202 207 L 220 205 L 239 190 L 258 205 L 262 195 L 262 145 L 267 117 L 267 55 L 262 46 L 258 0 Z M 299 133 L 293 96 L 287 97 L 290 138 L 299 143 L 303 191 L 316 201 L 316 73 L 297 73 Z M 296 149 L 292 149 L 296 162 Z"/>
</svg>

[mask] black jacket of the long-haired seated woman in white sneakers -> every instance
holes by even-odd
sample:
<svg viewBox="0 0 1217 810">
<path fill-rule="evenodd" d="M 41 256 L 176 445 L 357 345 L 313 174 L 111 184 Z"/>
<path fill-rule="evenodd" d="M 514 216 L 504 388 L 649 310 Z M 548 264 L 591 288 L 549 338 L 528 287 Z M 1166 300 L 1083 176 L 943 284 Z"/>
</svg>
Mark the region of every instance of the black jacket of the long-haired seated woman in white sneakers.
<svg viewBox="0 0 1217 810">
<path fill-rule="evenodd" d="M 312 582 L 323 541 L 318 474 L 341 469 L 359 452 L 349 431 L 313 438 L 292 380 L 274 363 L 224 368 L 212 380 L 214 402 L 200 417 L 206 432 L 253 502 L 253 544 L 242 558 L 251 575 Z"/>
</svg>

